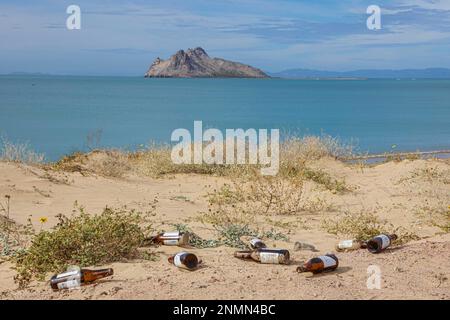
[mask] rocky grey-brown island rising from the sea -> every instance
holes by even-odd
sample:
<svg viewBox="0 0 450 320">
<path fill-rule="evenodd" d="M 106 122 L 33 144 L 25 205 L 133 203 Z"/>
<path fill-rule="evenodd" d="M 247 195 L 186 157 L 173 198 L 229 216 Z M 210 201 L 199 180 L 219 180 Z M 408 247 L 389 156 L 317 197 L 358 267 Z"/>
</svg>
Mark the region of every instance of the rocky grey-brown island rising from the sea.
<svg viewBox="0 0 450 320">
<path fill-rule="evenodd" d="M 155 59 L 146 78 L 268 78 L 251 66 L 211 58 L 202 48 L 179 50 L 167 60 Z"/>
</svg>

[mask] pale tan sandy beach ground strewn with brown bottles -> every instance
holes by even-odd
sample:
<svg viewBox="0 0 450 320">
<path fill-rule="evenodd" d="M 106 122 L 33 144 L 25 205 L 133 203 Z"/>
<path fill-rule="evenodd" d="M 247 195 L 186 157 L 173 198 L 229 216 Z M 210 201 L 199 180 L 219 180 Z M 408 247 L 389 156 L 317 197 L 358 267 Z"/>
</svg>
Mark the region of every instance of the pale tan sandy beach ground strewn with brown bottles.
<svg viewBox="0 0 450 320">
<path fill-rule="evenodd" d="M 302 214 L 303 227 L 288 227 L 290 242 L 271 243 L 291 250 L 294 265 L 260 265 L 232 258 L 233 249 L 194 249 L 204 261 L 195 272 L 181 271 L 166 261 L 178 250 L 160 247 L 155 262 L 115 263 L 111 280 L 70 292 L 52 292 L 46 283 L 33 283 L 17 290 L 8 262 L 0 263 L 0 298 L 17 299 L 449 299 L 450 236 L 424 222 L 415 212 L 428 207 L 450 204 L 448 181 L 431 175 L 419 175 L 423 169 L 445 172 L 448 161 L 416 160 L 390 162 L 372 168 L 357 168 L 324 159 L 315 164 L 337 177 L 345 178 L 353 192 L 338 195 L 307 185 L 307 196 L 325 199 L 334 211 Z M 434 172 L 434 171 L 433 171 Z M 39 217 L 48 217 L 43 227 L 55 223 L 58 213 L 68 214 L 77 201 L 88 211 L 98 212 L 106 205 L 148 210 L 158 199 L 155 226 L 183 222 L 207 208 L 208 190 L 221 185 L 224 178 L 180 175 L 175 178 L 150 179 L 127 177 L 109 179 L 78 173 L 46 175 L 42 169 L 0 163 L 0 195 L 11 195 L 11 218 L 25 223 L 28 216 L 39 225 Z M 333 250 L 336 238 L 319 228 L 327 216 L 344 211 L 371 210 L 396 226 L 413 230 L 424 239 L 400 248 L 373 255 L 365 250 L 340 253 L 339 271 L 320 276 L 297 274 L 296 264 L 312 257 L 309 251 L 293 251 L 295 241 L 314 244 L 321 253 Z M 420 210 L 419 210 L 420 211 Z M 281 219 L 281 218 L 279 218 Z M 211 236 L 210 226 L 198 222 L 189 225 L 201 236 Z M 263 226 L 263 224 L 261 225 Z M 378 265 L 382 288 L 366 286 L 367 267 Z"/>
</svg>

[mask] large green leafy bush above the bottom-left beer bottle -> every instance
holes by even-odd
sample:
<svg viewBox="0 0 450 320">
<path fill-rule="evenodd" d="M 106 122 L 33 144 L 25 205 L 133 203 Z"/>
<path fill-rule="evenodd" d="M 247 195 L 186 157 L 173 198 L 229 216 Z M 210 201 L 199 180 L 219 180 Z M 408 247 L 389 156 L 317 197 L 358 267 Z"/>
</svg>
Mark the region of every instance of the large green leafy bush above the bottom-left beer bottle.
<svg viewBox="0 0 450 320">
<path fill-rule="evenodd" d="M 41 230 L 26 250 L 12 257 L 20 287 L 68 265 L 92 266 L 139 257 L 137 249 L 151 229 L 142 213 L 105 208 L 89 215 L 82 207 L 77 209 L 77 215 L 59 215 L 53 229 Z"/>
</svg>

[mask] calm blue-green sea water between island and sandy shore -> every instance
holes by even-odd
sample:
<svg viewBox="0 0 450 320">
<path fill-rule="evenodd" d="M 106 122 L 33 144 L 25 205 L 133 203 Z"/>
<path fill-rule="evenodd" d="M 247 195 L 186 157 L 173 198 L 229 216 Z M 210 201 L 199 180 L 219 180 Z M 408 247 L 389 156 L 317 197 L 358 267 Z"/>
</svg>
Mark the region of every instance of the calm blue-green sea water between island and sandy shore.
<svg viewBox="0 0 450 320">
<path fill-rule="evenodd" d="M 101 147 L 170 142 L 194 120 L 328 134 L 369 153 L 450 149 L 450 80 L 0 76 L 0 135 L 48 160 L 86 150 L 94 132 Z"/>
</svg>

